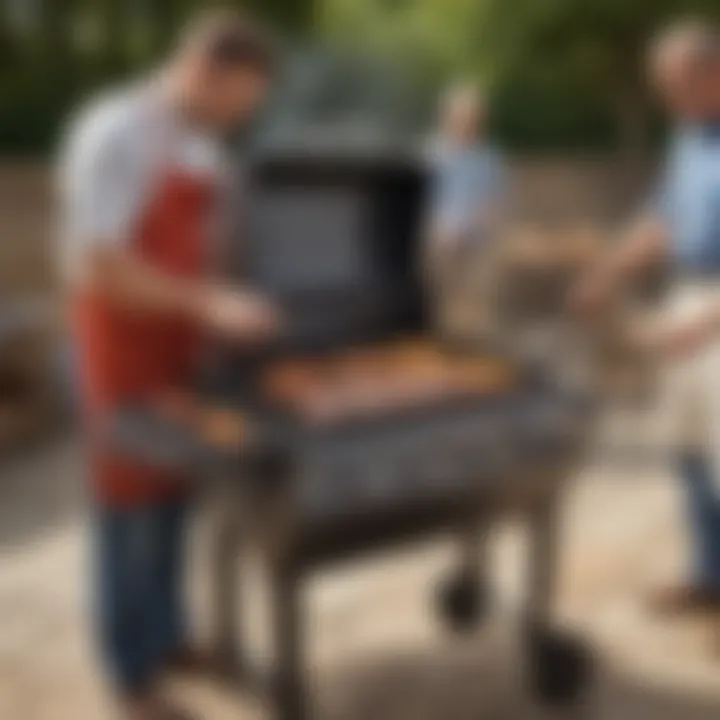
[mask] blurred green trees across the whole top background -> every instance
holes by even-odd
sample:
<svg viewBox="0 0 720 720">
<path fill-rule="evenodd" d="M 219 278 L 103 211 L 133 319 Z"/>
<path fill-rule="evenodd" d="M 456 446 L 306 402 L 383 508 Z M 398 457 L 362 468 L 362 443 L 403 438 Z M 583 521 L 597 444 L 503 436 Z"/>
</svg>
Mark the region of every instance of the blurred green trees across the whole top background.
<svg viewBox="0 0 720 720">
<path fill-rule="evenodd" d="M 500 137 L 529 149 L 637 143 L 652 119 L 647 38 L 677 17 L 720 20 L 720 0 L 38 0 L 18 28 L 8 8 L 22 1 L 0 2 L 0 152 L 44 150 L 80 94 L 155 62 L 194 9 L 228 3 L 391 67 L 423 99 L 416 120 L 440 87 L 477 79 Z"/>
</svg>

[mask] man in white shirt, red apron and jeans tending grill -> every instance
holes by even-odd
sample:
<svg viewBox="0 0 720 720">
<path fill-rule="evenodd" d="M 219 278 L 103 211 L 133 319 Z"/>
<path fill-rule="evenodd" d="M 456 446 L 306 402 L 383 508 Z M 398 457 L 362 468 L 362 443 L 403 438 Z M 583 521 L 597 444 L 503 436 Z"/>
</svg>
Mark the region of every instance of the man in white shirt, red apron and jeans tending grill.
<svg viewBox="0 0 720 720">
<path fill-rule="evenodd" d="M 263 100 L 265 34 L 232 12 L 194 23 L 152 78 L 90 105 L 61 162 L 64 237 L 95 498 L 100 645 L 123 717 L 184 717 L 156 681 L 188 664 L 182 609 L 187 485 L 113 448 L 126 405 L 187 414 L 204 333 L 273 332 L 272 308 L 209 275 L 224 172 L 217 138 Z"/>
</svg>

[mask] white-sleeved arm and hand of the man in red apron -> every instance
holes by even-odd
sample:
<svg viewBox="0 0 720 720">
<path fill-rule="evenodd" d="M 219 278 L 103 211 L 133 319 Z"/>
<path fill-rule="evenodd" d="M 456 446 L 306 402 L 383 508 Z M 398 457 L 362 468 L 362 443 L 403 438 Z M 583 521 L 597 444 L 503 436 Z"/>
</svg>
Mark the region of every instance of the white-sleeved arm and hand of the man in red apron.
<svg viewBox="0 0 720 720">
<path fill-rule="evenodd" d="M 187 317 L 225 335 L 252 340 L 271 332 L 273 312 L 251 292 L 175 277 L 134 252 L 130 237 L 161 160 L 138 143 L 144 131 L 106 114 L 91 117 L 71 140 L 61 190 L 74 218 L 64 248 L 72 282 L 128 310 Z"/>
</svg>

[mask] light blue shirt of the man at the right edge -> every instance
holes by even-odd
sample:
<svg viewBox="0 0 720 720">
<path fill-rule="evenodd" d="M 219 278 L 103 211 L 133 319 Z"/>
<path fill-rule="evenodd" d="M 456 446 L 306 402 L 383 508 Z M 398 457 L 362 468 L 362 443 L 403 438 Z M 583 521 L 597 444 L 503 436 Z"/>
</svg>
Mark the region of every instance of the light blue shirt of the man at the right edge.
<svg viewBox="0 0 720 720">
<path fill-rule="evenodd" d="M 680 267 L 720 275 L 720 124 L 678 133 L 656 209 Z"/>
</svg>

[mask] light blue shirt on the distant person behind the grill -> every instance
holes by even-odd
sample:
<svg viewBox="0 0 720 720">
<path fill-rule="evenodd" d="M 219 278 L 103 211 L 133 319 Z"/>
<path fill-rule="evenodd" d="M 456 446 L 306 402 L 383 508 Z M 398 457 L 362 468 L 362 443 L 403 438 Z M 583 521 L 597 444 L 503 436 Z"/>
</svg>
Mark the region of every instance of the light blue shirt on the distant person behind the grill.
<svg viewBox="0 0 720 720">
<path fill-rule="evenodd" d="M 500 202 L 504 184 L 495 150 L 481 145 L 440 147 L 434 163 L 433 224 L 451 233 L 477 229 L 483 214 Z"/>
</svg>

